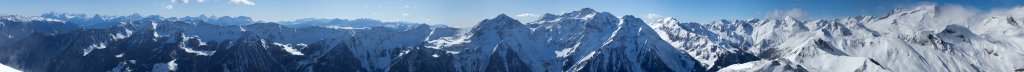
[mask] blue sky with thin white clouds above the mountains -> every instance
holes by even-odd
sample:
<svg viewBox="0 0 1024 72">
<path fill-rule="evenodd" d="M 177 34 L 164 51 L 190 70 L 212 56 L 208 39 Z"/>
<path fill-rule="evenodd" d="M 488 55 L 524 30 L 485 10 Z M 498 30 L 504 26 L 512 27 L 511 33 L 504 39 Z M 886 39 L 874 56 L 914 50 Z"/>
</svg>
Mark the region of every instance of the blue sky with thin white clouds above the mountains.
<svg viewBox="0 0 1024 72">
<path fill-rule="evenodd" d="M 374 19 L 452 27 L 472 27 L 498 14 L 532 22 L 544 13 L 561 14 L 585 7 L 645 21 L 681 22 L 777 19 L 828 20 L 885 15 L 893 8 L 919 4 L 962 5 L 973 9 L 1018 7 L 1020 0 L 0 0 L 0 13 L 46 12 L 163 16 L 246 15 L 255 21 L 298 19 Z"/>
</svg>

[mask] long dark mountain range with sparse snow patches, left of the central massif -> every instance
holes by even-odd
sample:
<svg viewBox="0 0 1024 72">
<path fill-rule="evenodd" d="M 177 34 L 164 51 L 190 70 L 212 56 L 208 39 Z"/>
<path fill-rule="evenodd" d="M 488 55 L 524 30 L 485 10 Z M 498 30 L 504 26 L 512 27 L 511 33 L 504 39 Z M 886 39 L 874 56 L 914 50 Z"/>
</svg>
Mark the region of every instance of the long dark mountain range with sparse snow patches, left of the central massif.
<svg viewBox="0 0 1024 72">
<path fill-rule="evenodd" d="M 400 50 L 460 31 L 428 25 L 289 28 L 162 19 L 93 29 L 45 17 L 5 15 L 2 21 L 2 56 L 10 58 L 0 62 L 25 71 L 383 71 Z"/>
</svg>

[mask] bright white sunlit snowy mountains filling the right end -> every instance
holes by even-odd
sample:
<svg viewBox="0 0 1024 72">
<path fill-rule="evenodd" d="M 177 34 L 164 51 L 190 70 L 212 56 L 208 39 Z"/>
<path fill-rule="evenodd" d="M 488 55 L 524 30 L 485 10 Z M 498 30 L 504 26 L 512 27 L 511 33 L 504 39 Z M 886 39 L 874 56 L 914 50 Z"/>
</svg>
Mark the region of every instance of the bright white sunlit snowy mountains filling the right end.
<svg viewBox="0 0 1024 72">
<path fill-rule="evenodd" d="M 1020 29 L 1014 26 L 1019 19 L 994 15 L 971 22 L 961 14 L 972 13 L 943 9 L 923 5 L 896 9 L 883 17 L 749 21 L 755 29 L 750 35 L 753 44 L 745 51 L 761 60 L 722 71 L 956 72 L 1024 67 L 1016 62 L 1024 55 L 1006 55 L 1021 53 L 1017 47 L 1024 43 L 1015 36 L 1020 32 L 1014 32 Z"/>
</svg>

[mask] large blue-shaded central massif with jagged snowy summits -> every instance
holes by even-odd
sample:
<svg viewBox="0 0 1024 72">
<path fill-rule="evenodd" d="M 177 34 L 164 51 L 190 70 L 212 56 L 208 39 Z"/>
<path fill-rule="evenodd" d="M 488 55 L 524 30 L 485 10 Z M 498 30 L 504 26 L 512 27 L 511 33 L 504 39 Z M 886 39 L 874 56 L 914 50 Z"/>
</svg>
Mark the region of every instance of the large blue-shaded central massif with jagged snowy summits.
<svg viewBox="0 0 1024 72">
<path fill-rule="evenodd" d="M 430 42 L 455 59 L 454 71 L 703 71 L 640 19 L 590 8 L 528 24 L 500 14 Z"/>
</svg>

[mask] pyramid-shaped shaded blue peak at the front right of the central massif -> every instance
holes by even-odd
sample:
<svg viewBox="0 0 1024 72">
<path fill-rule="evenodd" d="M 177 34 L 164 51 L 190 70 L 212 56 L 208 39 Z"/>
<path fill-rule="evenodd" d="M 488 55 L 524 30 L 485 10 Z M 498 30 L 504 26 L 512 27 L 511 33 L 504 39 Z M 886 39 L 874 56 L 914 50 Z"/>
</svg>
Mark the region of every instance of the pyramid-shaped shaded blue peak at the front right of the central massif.
<svg viewBox="0 0 1024 72">
<path fill-rule="evenodd" d="M 697 61 L 657 38 L 641 20 L 625 15 L 617 26 L 605 43 L 568 71 L 702 71 Z"/>
</svg>

